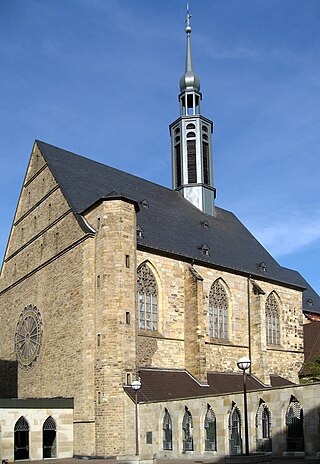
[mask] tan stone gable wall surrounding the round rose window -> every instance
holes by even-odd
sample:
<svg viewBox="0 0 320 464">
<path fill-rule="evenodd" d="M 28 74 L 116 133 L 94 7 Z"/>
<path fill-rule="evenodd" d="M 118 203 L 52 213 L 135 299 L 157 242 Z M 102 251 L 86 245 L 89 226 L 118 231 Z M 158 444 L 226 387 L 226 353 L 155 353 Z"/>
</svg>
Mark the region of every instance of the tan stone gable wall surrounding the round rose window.
<svg viewBox="0 0 320 464">
<path fill-rule="evenodd" d="M 95 452 L 94 287 L 86 259 L 90 241 L 35 149 L 1 274 L 0 304 L 6 311 L 0 323 L 7 338 L 0 358 L 15 362 L 19 316 L 24 307 L 36 306 L 42 345 L 31 369 L 18 367 L 16 390 L 20 398 L 75 398 L 76 453 Z"/>
</svg>

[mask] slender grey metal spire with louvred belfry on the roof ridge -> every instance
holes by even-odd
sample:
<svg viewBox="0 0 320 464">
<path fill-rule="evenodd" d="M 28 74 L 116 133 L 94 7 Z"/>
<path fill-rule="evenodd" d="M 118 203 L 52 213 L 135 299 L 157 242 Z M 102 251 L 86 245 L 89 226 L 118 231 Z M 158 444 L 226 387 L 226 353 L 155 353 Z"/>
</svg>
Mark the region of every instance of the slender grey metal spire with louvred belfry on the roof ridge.
<svg viewBox="0 0 320 464">
<path fill-rule="evenodd" d="M 187 53 L 180 79 L 180 117 L 170 124 L 173 188 L 204 213 L 214 215 L 212 172 L 213 122 L 201 115 L 200 79 L 191 54 L 190 12 L 187 5 Z"/>
</svg>

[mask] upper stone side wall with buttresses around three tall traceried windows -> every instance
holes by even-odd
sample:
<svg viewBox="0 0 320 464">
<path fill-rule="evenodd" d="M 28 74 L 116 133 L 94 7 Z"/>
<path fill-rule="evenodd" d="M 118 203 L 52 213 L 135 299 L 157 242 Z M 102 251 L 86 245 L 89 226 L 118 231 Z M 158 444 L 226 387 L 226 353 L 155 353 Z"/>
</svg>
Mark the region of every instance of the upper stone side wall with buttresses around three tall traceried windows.
<svg viewBox="0 0 320 464">
<path fill-rule="evenodd" d="M 186 263 L 138 251 L 138 263 L 145 261 L 150 264 L 159 289 L 159 333 L 139 332 L 138 365 L 186 368 L 205 382 L 207 371 L 237 370 L 238 359 L 250 355 L 252 373 L 266 384 L 270 383 L 269 374 L 298 382 L 297 373 L 303 362 L 300 291 L 259 281 L 264 294 L 255 296 L 252 283 L 240 275 L 194 266 L 198 274 L 196 284 L 192 283 L 195 280 L 190 277 L 190 266 Z M 209 293 L 216 279 L 221 280 L 228 296 L 227 339 L 209 336 Z M 271 292 L 276 293 L 280 307 L 280 345 L 277 346 L 266 344 L 265 304 Z M 190 338 L 192 333 L 194 336 Z"/>
</svg>

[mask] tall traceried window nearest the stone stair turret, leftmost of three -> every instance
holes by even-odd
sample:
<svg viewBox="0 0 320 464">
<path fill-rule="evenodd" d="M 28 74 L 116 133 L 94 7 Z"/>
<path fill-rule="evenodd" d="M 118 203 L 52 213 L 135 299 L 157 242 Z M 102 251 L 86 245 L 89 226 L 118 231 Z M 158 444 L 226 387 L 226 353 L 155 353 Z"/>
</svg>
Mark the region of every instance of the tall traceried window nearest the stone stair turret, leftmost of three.
<svg viewBox="0 0 320 464">
<path fill-rule="evenodd" d="M 158 330 L 157 283 L 146 264 L 137 271 L 139 299 L 139 329 Z"/>
</svg>

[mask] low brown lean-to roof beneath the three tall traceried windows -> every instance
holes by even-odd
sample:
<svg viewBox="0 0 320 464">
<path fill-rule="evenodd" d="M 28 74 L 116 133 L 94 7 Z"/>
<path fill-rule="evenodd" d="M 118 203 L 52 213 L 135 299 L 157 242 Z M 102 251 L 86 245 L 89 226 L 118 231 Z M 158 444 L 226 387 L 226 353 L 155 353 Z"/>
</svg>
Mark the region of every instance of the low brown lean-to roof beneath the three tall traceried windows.
<svg viewBox="0 0 320 464">
<path fill-rule="evenodd" d="M 139 402 L 178 400 L 214 395 L 227 395 L 243 391 L 243 374 L 241 372 L 209 372 L 208 384 L 200 384 L 188 371 L 179 369 L 141 369 L 139 370 L 141 389 L 138 392 Z M 277 380 L 272 387 L 294 385 L 292 382 L 272 376 Z M 272 378 L 271 378 L 272 380 Z M 270 387 L 264 385 L 256 377 L 247 376 L 247 390 L 262 390 Z M 130 386 L 124 387 L 125 392 L 134 399 Z"/>
</svg>

